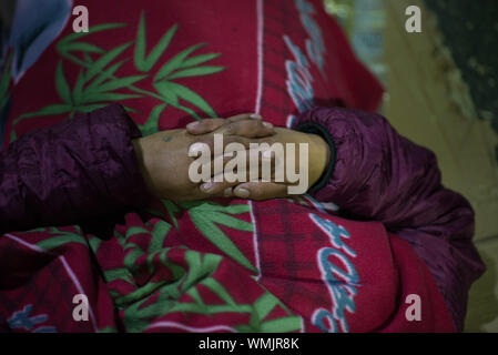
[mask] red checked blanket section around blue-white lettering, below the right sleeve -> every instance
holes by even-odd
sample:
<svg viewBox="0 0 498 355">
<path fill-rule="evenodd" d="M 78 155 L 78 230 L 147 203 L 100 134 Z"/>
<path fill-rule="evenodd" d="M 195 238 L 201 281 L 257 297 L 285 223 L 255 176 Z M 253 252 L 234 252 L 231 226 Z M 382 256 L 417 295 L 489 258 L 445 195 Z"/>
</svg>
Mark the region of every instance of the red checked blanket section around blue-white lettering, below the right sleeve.
<svg viewBox="0 0 498 355">
<path fill-rule="evenodd" d="M 331 294 L 317 272 L 318 253 L 334 246 L 331 234 L 316 223 L 309 223 L 309 212 L 304 207 L 289 209 L 284 201 L 255 205 L 258 227 L 258 248 L 262 265 L 261 281 L 284 303 L 298 314 L 313 314 L 316 308 L 331 310 Z M 424 262 L 413 248 L 394 234 L 388 234 L 382 223 L 353 222 L 336 216 L 318 214 L 321 219 L 343 226 L 350 236 L 342 240 L 356 254 L 334 247 L 358 272 L 358 294 L 354 297 L 355 312 L 345 311 L 352 332 L 451 332 L 455 331 L 446 305 Z M 284 262 L 282 262 L 284 260 Z M 338 257 L 329 257 L 331 265 L 346 272 Z M 339 277 L 338 285 L 354 285 Z M 339 286 L 342 287 L 342 286 Z M 421 301 L 421 320 L 407 322 L 405 300 L 418 294 Z M 327 306 L 328 305 L 328 306 Z M 315 329 L 304 316 L 305 328 Z M 344 328 L 338 326 L 341 332 Z"/>
</svg>

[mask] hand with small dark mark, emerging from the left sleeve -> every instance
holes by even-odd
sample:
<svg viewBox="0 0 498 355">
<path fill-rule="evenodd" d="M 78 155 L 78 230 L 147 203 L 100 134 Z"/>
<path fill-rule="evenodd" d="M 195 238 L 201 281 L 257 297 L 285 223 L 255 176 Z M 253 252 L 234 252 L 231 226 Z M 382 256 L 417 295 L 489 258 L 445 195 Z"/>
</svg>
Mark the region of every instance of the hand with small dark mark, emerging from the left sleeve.
<svg viewBox="0 0 498 355">
<path fill-rule="evenodd" d="M 261 119 L 252 119 L 251 114 L 241 114 L 223 120 L 230 124 L 215 128 L 220 120 L 222 119 L 204 120 L 204 125 L 213 129 L 204 134 L 192 135 L 186 130 L 180 129 L 157 132 L 133 141 L 142 175 L 152 195 L 171 201 L 231 195 L 226 192 L 231 191 L 230 187 L 234 183 L 224 182 L 213 191 L 209 189 L 209 184 L 193 183 L 190 180 L 189 166 L 195 160 L 195 156 L 189 156 L 191 145 L 205 143 L 213 152 L 213 135 L 222 133 L 224 146 L 232 142 L 238 142 L 248 148 L 246 138 L 268 136 L 274 131 L 273 125 Z M 195 126 L 195 122 L 190 126 Z"/>
</svg>

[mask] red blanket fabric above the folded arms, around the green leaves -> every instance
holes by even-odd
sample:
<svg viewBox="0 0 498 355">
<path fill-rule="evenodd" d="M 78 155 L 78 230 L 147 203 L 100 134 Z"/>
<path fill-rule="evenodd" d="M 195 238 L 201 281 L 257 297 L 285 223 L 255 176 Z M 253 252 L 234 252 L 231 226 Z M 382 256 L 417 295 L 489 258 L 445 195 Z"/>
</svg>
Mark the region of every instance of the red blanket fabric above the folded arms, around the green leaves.
<svg viewBox="0 0 498 355">
<path fill-rule="evenodd" d="M 374 111 L 380 101 L 383 89 L 377 80 L 353 55 L 347 40 L 338 24 L 325 13 L 322 2 L 308 1 L 316 10 L 313 19 L 321 28 L 326 44 L 325 75 L 311 62 L 315 103 L 326 105 L 343 102 L 346 106 Z M 222 53 L 206 65 L 223 65 L 222 72 L 206 77 L 185 78 L 185 85 L 200 93 L 218 116 L 228 116 L 240 112 L 254 112 L 257 101 L 258 57 L 257 57 L 257 1 L 213 0 L 209 6 L 203 1 L 120 1 L 98 0 L 74 1 L 74 6 L 84 4 L 90 13 L 90 27 L 101 23 L 125 23 L 126 26 L 101 31 L 84 37 L 84 42 L 103 49 L 113 49 L 134 41 L 142 11 L 146 19 L 146 54 L 172 26 L 179 29 L 165 54 L 152 68 L 155 73 L 169 59 L 182 50 L 197 43 L 206 43 L 195 53 Z M 309 39 L 299 20 L 299 12 L 293 1 L 263 1 L 263 82 L 261 114 L 276 125 L 286 125 L 291 114 L 298 110 L 293 103 L 287 83 L 286 61 L 295 61 L 283 40 L 288 36 L 293 43 L 306 54 L 305 41 Z M 72 33 L 71 17 L 60 38 Z M 55 41 L 57 42 L 57 41 Z M 4 146 L 10 142 L 11 131 L 19 136 L 35 128 L 60 122 L 67 114 L 38 116 L 21 120 L 12 126 L 12 120 L 28 112 L 61 101 L 54 84 L 55 68 L 62 59 L 55 42 L 40 57 L 34 67 L 28 70 L 14 87 L 10 120 L 4 131 Z M 126 49 L 119 59 L 128 61 L 116 72 L 120 77 L 139 74 L 133 63 L 133 47 Z M 70 85 L 75 82 L 81 67 L 64 60 L 64 73 Z M 141 89 L 154 91 L 153 80 L 149 78 L 138 84 Z M 126 92 L 121 90 L 120 92 Z M 149 97 L 124 100 L 126 106 L 138 110 L 133 119 L 145 123 L 154 106 L 161 103 Z M 205 113 L 195 110 L 201 116 Z M 167 110 L 160 119 L 159 129 L 184 126 L 191 121 L 185 112 Z"/>
</svg>

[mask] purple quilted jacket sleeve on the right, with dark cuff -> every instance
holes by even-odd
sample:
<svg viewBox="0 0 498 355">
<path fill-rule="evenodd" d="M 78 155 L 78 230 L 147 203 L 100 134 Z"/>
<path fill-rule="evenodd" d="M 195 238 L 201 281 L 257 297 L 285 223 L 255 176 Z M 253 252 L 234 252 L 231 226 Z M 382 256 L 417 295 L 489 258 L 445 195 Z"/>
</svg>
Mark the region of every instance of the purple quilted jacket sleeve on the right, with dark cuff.
<svg viewBox="0 0 498 355">
<path fill-rule="evenodd" d="M 400 136 L 383 116 L 357 110 L 313 109 L 296 129 L 321 134 L 331 145 L 332 165 L 315 197 L 348 216 L 383 222 L 408 241 L 461 331 L 470 284 L 485 265 L 471 242 L 474 211 L 441 185 L 435 154 Z"/>
</svg>

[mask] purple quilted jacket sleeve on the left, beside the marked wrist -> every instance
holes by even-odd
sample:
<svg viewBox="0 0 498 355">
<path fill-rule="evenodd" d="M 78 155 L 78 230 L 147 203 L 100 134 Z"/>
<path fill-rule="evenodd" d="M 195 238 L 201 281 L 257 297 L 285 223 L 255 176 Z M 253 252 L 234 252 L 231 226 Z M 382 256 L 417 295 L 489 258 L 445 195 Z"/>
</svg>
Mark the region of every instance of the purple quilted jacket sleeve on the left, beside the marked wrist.
<svg viewBox="0 0 498 355">
<path fill-rule="evenodd" d="M 132 139 L 114 104 L 27 133 L 0 153 L 0 232 L 63 225 L 146 204 Z"/>
</svg>

